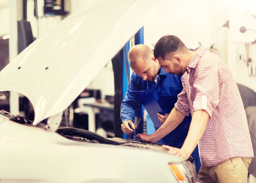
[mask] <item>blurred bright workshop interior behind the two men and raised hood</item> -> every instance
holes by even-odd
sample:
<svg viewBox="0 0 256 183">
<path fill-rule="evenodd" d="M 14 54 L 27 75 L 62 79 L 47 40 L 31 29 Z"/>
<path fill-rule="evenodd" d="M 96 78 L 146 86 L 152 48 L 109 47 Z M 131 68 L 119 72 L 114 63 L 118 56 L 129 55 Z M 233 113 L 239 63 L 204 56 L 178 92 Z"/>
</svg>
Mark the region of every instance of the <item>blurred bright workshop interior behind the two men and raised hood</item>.
<svg viewBox="0 0 256 183">
<path fill-rule="evenodd" d="M 21 41 L 18 54 L 24 49 L 22 41 L 26 40 L 29 45 L 88 4 L 89 0 L 0 0 L 0 70 L 13 59 L 9 59 L 9 51 L 15 57 L 8 42 L 12 27 L 15 27 L 12 20 L 20 21 L 17 25 L 18 36 L 21 36 L 18 38 Z M 11 8 L 17 8 L 17 12 L 11 12 Z M 256 0 L 161 0 L 157 16 L 145 24 L 142 31 L 144 44 L 152 49 L 160 37 L 169 34 L 177 35 L 190 49 L 204 45 L 219 55 L 230 67 L 239 86 L 247 118 L 250 117 L 250 133 L 253 133 L 256 122 L 256 116 L 253 116 L 256 112 Z M 26 35 L 22 37 L 23 33 Z M 134 45 L 134 40 L 131 39 L 130 46 Z M 128 73 L 131 76 L 132 71 Z M 114 95 L 113 65 L 109 61 L 66 109 L 69 126 L 93 131 L 103 137 L 115 137 Z M 20 94 L 1 93 L 0 107 L 18 111 L 33 120 L 32 106 Z M 153 123 L 146 112 L 143 113 L 143 123 L 143 132 L 152 134 Z M 66 125 L 65 120 L 62 125 Z"/>
</svg>

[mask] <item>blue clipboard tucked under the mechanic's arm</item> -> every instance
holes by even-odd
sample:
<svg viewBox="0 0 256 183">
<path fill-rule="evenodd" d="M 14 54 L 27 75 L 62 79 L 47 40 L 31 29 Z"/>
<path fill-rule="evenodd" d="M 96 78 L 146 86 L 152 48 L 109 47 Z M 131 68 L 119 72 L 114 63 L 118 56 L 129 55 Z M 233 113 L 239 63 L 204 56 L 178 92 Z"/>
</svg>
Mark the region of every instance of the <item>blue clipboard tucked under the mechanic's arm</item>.
<svg viewBox="0 0 256 183">
<path fill-rule="evenodd" d="M 154 127 L 159 128 L 161 122 L 158 120 L 157 113 L 165 115 L 160 105 L 157 102 L 157 99 L 154 97 L 154 94 L 151 91 L 135 91 L 137 96 L 139 96 L 141 103 L 145 107 L 150 116 Z"/>
</svg>

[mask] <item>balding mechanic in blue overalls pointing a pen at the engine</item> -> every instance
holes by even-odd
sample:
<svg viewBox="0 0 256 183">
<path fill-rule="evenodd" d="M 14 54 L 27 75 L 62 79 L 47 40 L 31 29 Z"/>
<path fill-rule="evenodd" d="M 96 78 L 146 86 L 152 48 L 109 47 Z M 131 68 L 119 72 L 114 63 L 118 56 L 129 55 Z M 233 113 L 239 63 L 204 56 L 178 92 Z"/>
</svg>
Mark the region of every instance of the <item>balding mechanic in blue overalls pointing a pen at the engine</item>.
<svg viewBox="0 0 256 183">
<path fill-rule="evenodd" d="M 128 85 L 125 99 L 121 104 L 122 131 L 125 134 L 132 134 L 128 122 L 135 130 L 134 120 L 137 111 L 141 108 L 141 102 L 135 91 L 152 91 L 160 107 L 166 115 L 157 113 L 159 121 L 163 124 L 169 116 L 170 111 L 177 102 L 177 95 L 182 91 L 181 77 L 165 73 L 160 67 L 157 59 L 154 58 L 153 50 L 144 44 L 133 46 L 128 52 L 128 61 L 134 71 Z M 183 122 L 170 134 L 163 137 L 164 145 L 181 148 L 189 131 L 191 115 L 186 116 Z M 156 129 L 157 130 L 157 129 Z M 192 153 L 197 171 L 201 166 L 198 147 Z"/>
</svg>

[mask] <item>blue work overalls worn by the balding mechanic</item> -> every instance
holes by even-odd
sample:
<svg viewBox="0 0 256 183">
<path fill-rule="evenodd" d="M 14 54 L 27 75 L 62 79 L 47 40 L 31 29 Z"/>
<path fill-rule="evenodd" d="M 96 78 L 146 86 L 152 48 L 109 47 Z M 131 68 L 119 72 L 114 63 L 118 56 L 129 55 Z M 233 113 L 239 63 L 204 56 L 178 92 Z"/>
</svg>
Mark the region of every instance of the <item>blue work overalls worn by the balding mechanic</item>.
<svg viewBox="0 0 256 183">
<path fill-rule="evenodd" d="M 123 99 L 121 104 L 120 118 L 122 119 L 122 122 L 127 120 L 134 122 L 135 115 L 141 108 L 140 99 L 134 91 L 152 91 L 163 112 L 170 113 L 177 102 L 177 95 L 182 91 L 182 89 L 181 77 L 170 73 L 166 74 L 162 67 L 157 83 L 155 83 L 155 81 L 143 81 L 143 78 L 139 75 L 132 73 L 131 81 L 128 85 L 127 93 L 125 94 L 125 99 Z M 166 137 L 163 137 L 163 139 L 158 143 L 181 148 L 188 134 L 190 122 L 191 115 L 189 114 L 189 116 L 186 116 L 183 122 L 181 122 L 175 130 L 166 135 Z M 192 157 L 195 159 L 198 172 L 201 166 L 198 146 L 192 153 Z"/>
</svg>

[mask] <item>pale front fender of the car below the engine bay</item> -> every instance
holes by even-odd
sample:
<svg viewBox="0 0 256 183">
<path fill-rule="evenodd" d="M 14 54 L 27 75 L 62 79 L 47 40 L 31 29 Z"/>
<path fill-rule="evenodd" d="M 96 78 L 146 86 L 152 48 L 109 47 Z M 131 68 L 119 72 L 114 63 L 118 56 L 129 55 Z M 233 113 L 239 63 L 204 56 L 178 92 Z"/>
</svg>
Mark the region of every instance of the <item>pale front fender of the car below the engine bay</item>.
<svg viewBox="0 0 256 183">
<path fill-rule="evenodd" d="M 183 161 L 168 151 L 78 142 L 42 128 L 12 122 L 2 115 L 0 120 L 1 183 L 10 180 L 81 183 L 94 179 L 169 183 L 176 180 L 168 163 Z"/>
</svg>

